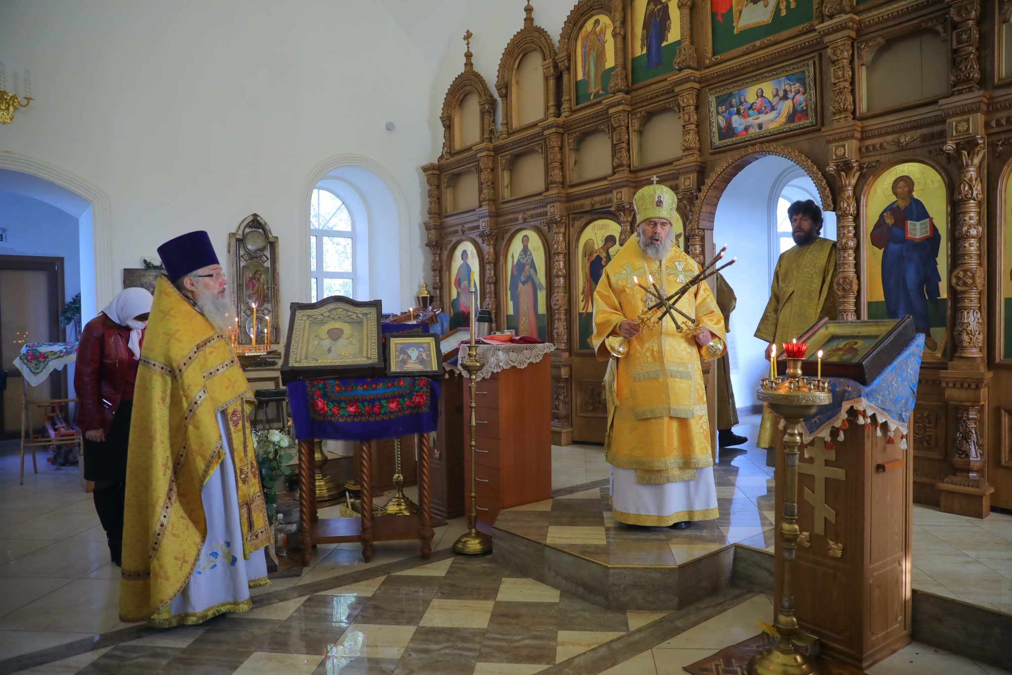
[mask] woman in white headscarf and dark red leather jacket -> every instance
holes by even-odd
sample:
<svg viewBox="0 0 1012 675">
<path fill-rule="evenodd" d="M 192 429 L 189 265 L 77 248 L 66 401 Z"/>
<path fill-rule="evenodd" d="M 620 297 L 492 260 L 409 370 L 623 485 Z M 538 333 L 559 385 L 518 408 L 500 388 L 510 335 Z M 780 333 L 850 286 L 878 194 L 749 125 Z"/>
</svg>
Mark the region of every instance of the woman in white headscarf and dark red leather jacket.
<svg viewBox="0 0 1012 675">
<path fill-rule="evenodd" d="M 84 478 L 95 483 L 95 511 L 116 566 L 122 552 L 134 383 L 153 300 L 144 288 L 126 288 L 88 322 L 77 346 L 74 389 L 77 426 L 84 434 Z"/>
</svg>

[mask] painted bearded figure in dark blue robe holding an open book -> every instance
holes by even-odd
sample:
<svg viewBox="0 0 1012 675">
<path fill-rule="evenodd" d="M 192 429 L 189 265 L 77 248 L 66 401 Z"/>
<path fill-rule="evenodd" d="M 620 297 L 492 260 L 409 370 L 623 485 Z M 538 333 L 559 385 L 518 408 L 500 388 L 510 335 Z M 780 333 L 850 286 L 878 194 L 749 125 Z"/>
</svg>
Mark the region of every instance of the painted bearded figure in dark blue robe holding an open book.
<svg viewBox="0 0 1012 675">
<path fill-rule="evenodd" d="M 893 201 L 878 216 L 871 230 L 871 244 L 882 249 L 882 296 L 890 319 L 910 315 L 924 346 L 935 351 L 931 337 L 928 301 L 938 306 L 941 275 L 938 250 L 941 234 L 924 202 L 914 196 L 914 179 L 899 176 L 893 181 Z"/>
</svg>

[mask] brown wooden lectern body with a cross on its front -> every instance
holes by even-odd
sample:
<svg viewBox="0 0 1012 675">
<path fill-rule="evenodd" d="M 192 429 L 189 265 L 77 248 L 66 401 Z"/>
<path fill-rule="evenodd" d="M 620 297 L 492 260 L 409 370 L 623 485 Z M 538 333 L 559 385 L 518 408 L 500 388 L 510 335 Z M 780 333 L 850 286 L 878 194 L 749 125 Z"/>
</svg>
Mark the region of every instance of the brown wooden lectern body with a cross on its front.
<svg viewBox="0 0 1012 675">
<path fill-rule="evenodd" d="M 864 670 L 910 643 L 913 471 L 912 448 L 901 449 L 898 430 L 890 442 L 884 424 L 878 435 L 874 417 L 865 425 L 856 415 L 848 414 L 843 440 L 833 429 L 831 442 L 814 438 L 799 458 L 793 584 L 802 627 L 826 656 Z M 777 433 L 777 527 L 783 457 Z M 779 537 L 776 545 L 779 557 Z"/>
</svg>

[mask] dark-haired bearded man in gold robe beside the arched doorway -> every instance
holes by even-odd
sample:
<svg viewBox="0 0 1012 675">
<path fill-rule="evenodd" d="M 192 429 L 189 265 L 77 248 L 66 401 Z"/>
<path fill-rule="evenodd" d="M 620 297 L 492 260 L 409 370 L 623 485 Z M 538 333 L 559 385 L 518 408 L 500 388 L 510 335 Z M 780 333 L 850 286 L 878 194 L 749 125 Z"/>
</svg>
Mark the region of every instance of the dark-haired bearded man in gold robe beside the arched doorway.
<svg viewBox="0 0 1012 675">
<path fill-rule="evenodd" d="M 836 242 L 819 236 L 822 209 L 812 199 L 798 200 L 787 207 L 787 217 L 795 246 L 776 261 L 769 302 L 755 332 L 763 342 L 775 342 L 777 353 L 822 317 L 835 321 L 838 305 Z M 757 445 L 773 447 L 773 415 L 765 404 Z"/>
</svg>

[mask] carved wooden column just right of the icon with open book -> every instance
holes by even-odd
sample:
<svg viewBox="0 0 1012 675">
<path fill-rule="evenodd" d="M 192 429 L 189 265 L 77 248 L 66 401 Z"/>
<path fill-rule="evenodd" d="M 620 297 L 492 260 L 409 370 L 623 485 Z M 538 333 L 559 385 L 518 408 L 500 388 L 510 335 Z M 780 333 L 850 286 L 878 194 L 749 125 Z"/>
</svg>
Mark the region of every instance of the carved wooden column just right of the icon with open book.
<svg viewBox="0 0 1012 675">
<path fill-rule="evenodd" d="M 950 141 L 944 148 L 959 167 L 959 185 L 953 195 L 955 256 L 949 274 L 952 294 L 955 296 L 955 358 L 983 361 L 985 352 L 981 294 L 986 284 L 981 260 L 981 202 L 984 187 L 979 170 L 987 144 L 977 136 L 966 141 Z"/>
</svg>

